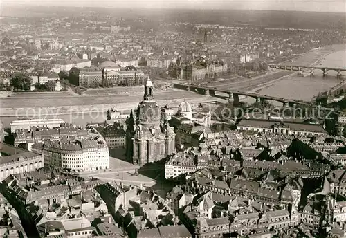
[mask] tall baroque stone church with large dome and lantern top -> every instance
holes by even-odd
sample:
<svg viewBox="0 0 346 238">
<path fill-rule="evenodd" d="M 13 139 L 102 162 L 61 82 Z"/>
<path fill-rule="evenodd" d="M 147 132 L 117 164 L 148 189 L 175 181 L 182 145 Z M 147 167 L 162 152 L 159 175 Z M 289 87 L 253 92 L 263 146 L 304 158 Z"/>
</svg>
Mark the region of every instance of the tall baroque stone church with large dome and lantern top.
<svg viewBox="0 0 346 238">
<path fill-rule="evenodd" d="M 155 102 L 150 78 L 144 86 L 144 98 L 127 120 L 127 157 L 135 165 L 145 165 L 170 156 L 175 151 L 175 134 L 165 111 Z"/>
</svg>

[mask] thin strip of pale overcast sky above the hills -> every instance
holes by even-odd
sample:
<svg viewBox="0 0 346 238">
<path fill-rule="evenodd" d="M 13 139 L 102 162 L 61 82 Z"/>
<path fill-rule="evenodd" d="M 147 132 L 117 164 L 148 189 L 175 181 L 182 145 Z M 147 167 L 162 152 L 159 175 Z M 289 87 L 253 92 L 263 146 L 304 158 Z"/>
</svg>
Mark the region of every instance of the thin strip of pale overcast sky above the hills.
<svg viewBox="0 0 346 238">
<path fill-rule="evenodd" d="M 346 12 L 346 0 L 0 0 L 3 5 Z"/>
</svg>

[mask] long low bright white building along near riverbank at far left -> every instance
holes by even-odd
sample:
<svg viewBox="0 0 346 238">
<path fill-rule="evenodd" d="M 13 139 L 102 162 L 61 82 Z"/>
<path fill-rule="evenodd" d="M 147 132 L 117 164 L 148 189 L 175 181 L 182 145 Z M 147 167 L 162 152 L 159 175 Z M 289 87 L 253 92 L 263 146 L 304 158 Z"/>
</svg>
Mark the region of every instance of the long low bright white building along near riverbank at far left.
<svg viewBox="0 0 346 238">
<path fill-rule="evenodd" d="M 15 133 L 17 130 L 27 130 L 30 131 L 34 128 L 46 127 L 60 127 L 64 124 L 62 119 L 30 119 L 30 120 L 14 120 L 10 123 L 11 133 Z"/>
</svg>

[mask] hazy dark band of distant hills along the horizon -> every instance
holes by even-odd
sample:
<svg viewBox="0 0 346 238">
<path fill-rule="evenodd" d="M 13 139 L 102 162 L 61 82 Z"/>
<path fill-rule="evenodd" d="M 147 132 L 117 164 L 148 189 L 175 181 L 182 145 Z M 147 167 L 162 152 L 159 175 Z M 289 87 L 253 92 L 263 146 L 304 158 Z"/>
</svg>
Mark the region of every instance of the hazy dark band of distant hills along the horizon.
<svg viewBox="0 0 346 238">
<path fill-rule="evenodd" d="M 273 10 L 178 10 L 178 9 L 118 9 L 49 6 L 3 6 L 2 17 L 80 17 L 111 15 L 126 18 L 146 17 L 151 20 L 181 21 L 196 24 L 220 24 L 275 28 L 332 28 L 346 30 L 344 12 L 293 12 Z"/>
</svg>

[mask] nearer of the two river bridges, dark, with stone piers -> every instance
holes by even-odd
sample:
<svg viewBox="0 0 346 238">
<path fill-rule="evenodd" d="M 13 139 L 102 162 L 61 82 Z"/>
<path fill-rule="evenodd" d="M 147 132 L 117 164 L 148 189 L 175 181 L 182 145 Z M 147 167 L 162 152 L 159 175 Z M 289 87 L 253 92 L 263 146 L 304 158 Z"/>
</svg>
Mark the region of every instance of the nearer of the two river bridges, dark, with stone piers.
<svg viewBox="0 0 346 238">
<path fill-rule="evenodd" d="M 229 90 L 229 89 L 219 89 L 219 88 L 213 88 L 213 87 L 206 87 L 206 86 L 193 86 L 188 84 L 174 84 L 174 87 L 177 89 L 183 89 L 187 91 L 193 91 L 195 93 L 200 93 L 203 95 L 211 95 L 215 96 L 215 93 L 226 93 L 228 94 L 228 101 L 233 102 L 237 104 L 239 102 L 239 95 L 244 95 L 246 97 L 255 98 L 256 102 L 262 102 L 264 100 L 272 100 L 276 102 L 282 102 L 284 107 L 293 107 L 294 104 L 304 104 L 304 105 L 311 105 L 310 102 L 302 102 L 298 100 L 289 100 L 285 98 L 277 98 L 269 95 L 260 95 L 257 93 L 246 93 L 242 91 L 235 91 L 235 90 Z"/>
</svg>

